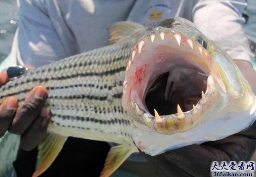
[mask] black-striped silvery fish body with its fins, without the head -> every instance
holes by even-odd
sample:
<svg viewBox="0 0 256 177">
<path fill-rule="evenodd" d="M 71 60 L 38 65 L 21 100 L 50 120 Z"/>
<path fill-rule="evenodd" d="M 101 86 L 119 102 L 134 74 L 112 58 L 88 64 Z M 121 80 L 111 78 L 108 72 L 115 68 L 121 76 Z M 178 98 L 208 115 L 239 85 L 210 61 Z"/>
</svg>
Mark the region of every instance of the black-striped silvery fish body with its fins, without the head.
<svg viewBox="0 0 256 177">
<path fill-rule="evenodd" d="M 128 59 L 146 28 L 133 22 L 117 22 L 109 30 L 112 45 L 30 70 L 0 88 L 0 103 L 4 97 L 15 95 L 19 104 L 35 86 L 48 90 L 45 106 L 50 108 L 52 118 L 38 146 L 33 177 L 50 167 L 70 136 L 118 144 L 110 149 L 101 176 L 110 176 L 129 155 L 138 152 L 131 138 L 130 118 L 122 107 L 122 95 Z M 0 145 L 4 143 L 8 142 L 0 138 Z M 6 160 L 2 159 L 5 151 L 15 154 L 18 149 L 17 145 L 12 150 L 5 147 L 0 150 L 0 162 Z M 12 160 L 0 166 L 0 176 L 10 170 Z"/>
</svg>

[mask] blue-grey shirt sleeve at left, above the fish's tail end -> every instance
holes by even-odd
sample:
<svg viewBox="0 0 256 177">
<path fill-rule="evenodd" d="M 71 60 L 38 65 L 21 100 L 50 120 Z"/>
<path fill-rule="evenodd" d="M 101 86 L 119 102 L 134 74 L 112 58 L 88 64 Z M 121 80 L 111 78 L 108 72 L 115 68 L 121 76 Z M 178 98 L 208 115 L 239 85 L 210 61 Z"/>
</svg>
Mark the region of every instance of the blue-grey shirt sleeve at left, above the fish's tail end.
<svg viewBox="0 0 256 177">
<path fill-rule="evenodd" d="M 39 0 L 20 1 L 20 22 L 11 52 L 12 63 L 39 67 L 72 55 L 61 40 L 56 30 L 58 24 L 48 14 L 46 3 Z M 61 16 L 56 13 L 56 16 Z"/>
</svg>

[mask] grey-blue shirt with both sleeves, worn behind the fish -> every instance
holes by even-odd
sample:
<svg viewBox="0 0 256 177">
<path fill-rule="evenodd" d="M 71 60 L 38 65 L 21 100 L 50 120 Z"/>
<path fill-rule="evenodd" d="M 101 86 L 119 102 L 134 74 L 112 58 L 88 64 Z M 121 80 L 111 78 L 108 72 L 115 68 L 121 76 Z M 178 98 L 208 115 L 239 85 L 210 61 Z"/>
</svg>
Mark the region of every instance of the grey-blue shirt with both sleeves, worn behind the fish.
<svg viewBox="0 0 256 177">
<path fill-rule="evenodd" d="M 233 59 L 251 60 L 242 0 L 21 0 L 12 64 L 39 67 L 108 45 L 108 27 L 133 21 L 152 27 L 179 16 L 193 21 Z"/>
</svg>

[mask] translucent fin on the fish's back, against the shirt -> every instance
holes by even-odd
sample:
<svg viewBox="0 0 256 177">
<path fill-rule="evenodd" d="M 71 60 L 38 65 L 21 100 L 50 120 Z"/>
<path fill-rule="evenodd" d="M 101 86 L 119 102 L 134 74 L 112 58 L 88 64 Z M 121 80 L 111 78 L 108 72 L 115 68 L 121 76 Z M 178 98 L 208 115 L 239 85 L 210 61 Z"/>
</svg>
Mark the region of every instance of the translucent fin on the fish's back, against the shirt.
<svg viewBox="0 0 256 177">
<path fill-rule="evenodd" d="M 118 40 L 123 39 L 136 31 L 146 30 L 141 24 L 135 22 L 116 22 L 109 27 L 110 39 L 109 44 L 114 44 Z"/>
</svg>

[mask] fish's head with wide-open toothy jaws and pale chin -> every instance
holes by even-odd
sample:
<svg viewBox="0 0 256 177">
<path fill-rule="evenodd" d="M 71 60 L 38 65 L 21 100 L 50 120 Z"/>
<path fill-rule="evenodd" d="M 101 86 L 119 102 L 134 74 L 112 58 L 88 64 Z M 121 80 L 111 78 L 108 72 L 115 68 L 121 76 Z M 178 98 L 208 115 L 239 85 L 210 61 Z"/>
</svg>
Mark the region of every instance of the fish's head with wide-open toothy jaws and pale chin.
<svg viewBox="0 0 256 177">
<path fill-rule="evenodd" d="M 255 95 L 236 64 L 183 18 L 166 19 L 138 40 L 123 86 L 133 140 L 151 155 L 224 138 L 255 118 Z M 237 122 L 218 132 L 229 121 Z"/>
</svg>

